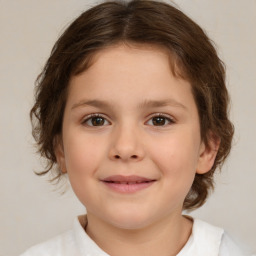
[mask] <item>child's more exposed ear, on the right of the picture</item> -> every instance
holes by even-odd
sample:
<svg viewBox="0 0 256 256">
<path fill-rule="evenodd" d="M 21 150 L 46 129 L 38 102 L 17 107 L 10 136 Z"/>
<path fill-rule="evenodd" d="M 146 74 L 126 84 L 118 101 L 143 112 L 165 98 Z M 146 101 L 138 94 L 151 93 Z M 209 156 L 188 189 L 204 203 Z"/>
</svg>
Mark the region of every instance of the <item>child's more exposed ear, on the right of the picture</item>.
<svg viewBox="0 0 256 256">
<path fill-rule="evenodd" d="M 208 135 L 208 145 L 201 142 L 199 159 L 197 164 L 198 174 L 204 174 L 211 170 L 220 146 L 220 138 L 212 132 Z"/>
</svg>

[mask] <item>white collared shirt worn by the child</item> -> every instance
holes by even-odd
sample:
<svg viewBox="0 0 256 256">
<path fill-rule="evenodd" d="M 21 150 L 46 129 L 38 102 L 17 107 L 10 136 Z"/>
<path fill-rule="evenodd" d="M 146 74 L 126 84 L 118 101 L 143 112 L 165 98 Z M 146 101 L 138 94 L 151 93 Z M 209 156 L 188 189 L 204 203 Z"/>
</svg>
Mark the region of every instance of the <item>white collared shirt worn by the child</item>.
<svg viewBox="0 0 256 256">
<path fill-rule="evenodd" d="M 86 218 L 78 217 L 73 229 L 20 256 L 110 256 L 84 231 Z M 224 230 L 194 219 L 192 234 L 177 256 L 246 256 Z"/>
</svg>

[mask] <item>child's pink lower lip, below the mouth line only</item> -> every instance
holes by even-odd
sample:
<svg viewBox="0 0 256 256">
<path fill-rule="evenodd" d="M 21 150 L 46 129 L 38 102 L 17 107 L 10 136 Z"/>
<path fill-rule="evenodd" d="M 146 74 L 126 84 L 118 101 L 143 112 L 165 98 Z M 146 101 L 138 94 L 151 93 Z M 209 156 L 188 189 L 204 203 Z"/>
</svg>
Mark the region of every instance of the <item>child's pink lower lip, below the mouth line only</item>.
<svg viewBox="0 0 256 256">
<path fill-rule="evenodd" d="M 123 184 L 123 183 L 112 183 L 112 182 L 103 182 L 108 188 L 114 190 L 119 193 L 129 194 L 135 193 L 137 191 L 146 189 L 153 185 L 155 181 L 150 182 L 141 182 L 141 183 L 133 183 L 133 184 Z"/>
</svg>

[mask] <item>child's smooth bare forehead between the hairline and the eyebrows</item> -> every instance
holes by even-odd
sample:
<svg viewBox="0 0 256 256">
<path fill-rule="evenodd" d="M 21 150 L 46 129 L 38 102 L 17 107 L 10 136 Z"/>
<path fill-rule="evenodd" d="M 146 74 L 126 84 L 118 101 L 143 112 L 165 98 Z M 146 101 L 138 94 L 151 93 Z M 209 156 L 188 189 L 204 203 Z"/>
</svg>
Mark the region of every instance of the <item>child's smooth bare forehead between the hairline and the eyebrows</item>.
<svg viewBox="0 0 256 256">
<path fill-rule="evenodd" d="M 95 54 L 87 70 L 72 77 L 69 99 L 77 101 L 75 104 L 96 98 L 112 104 L 118 100 L 141 105 L 143 101 L 168 98 L 188 102 L 192 96 L 190 83 L 173 75 L 171 60 L 166 49 L 152 45 L 108 47 Z"/>
</svg>

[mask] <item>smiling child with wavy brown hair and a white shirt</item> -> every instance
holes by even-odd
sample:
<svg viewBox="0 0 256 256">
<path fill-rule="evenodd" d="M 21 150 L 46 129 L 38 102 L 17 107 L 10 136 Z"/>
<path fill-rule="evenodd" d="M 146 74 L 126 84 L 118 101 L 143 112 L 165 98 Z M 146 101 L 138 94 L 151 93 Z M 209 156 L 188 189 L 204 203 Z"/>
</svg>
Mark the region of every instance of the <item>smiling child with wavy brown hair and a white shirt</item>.
<svg viewBox="0 0 256 256">
<path fill-rule="evenodd" d="M 182 215 L 206 201 L 233 136 L 224 66 L 197 24 L 161 2 L 97 5 L 37 82 L 41 174 L 67 173 L 87 214 L 23 256 L 244 255 L 221 228 Z"/>
</svg>

